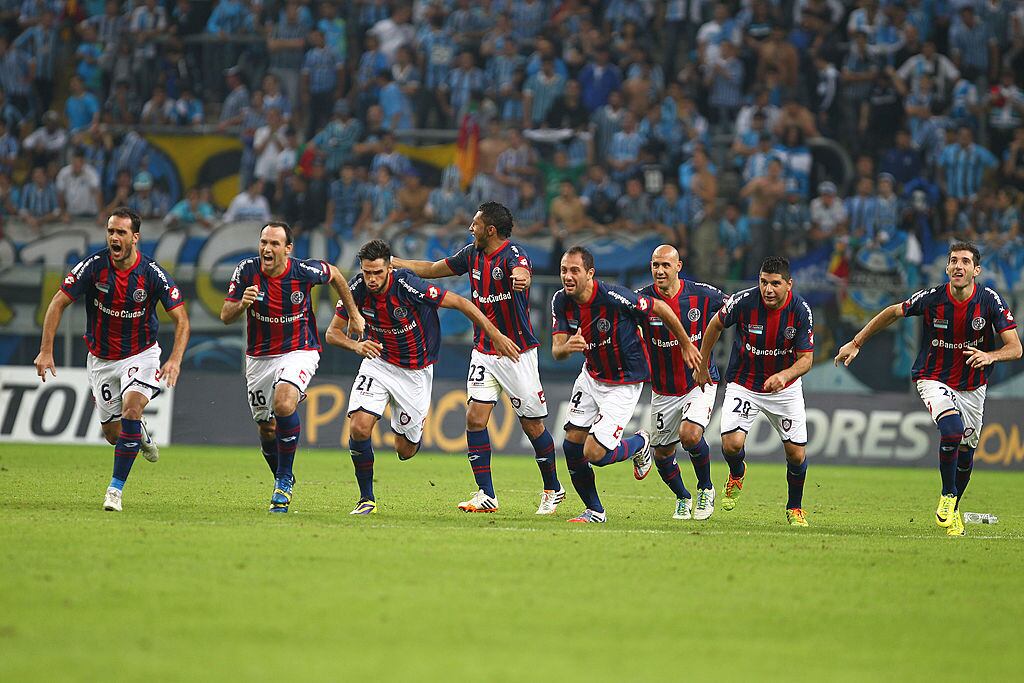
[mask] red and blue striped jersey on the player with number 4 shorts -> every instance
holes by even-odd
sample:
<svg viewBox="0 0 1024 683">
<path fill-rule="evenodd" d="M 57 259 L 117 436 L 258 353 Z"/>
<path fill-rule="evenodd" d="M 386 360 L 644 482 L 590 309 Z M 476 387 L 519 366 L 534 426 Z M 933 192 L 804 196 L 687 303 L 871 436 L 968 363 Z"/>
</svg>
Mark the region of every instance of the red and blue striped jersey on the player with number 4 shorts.
<svg viewBox="0 0 1024 683">
<path fill-rule="evenodd" d="M 650 297 L 594 280 L 590 301 L 580 304 L 558 290 L 551 299 L 551 331 L 587 341 L 587 372 L 609 384 L 637 384 L 650 378 L 647 347 L 637 327 L 653 308 Z"/>
</svg>

